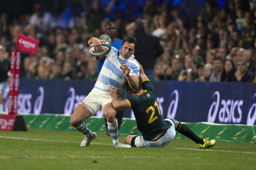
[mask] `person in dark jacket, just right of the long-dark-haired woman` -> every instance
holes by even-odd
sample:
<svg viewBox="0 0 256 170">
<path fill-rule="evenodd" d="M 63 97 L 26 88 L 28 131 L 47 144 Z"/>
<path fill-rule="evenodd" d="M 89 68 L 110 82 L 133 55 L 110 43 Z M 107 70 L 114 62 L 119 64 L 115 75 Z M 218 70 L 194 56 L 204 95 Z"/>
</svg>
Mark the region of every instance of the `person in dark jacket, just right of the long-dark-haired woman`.
<svg viewBox="0 0 256 170">
<path fill-rule="evenodd" d="M 244 58 L 239 58 L 236 63 L 236 80 L 237 81 L 252 81 L 252 72 L 247 68 L 247 61 Z"/>
</svg>

